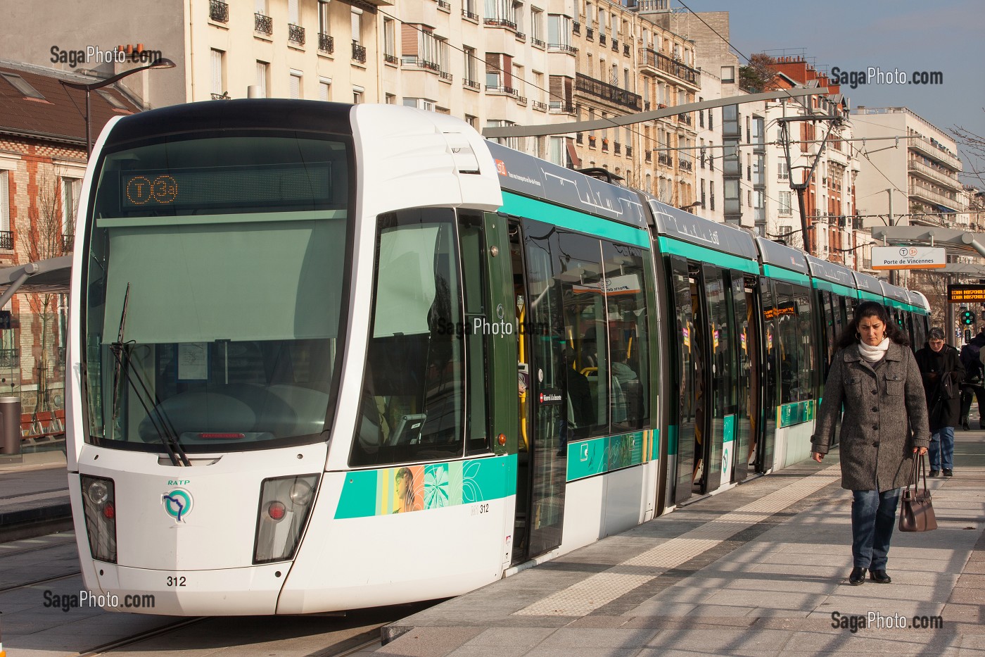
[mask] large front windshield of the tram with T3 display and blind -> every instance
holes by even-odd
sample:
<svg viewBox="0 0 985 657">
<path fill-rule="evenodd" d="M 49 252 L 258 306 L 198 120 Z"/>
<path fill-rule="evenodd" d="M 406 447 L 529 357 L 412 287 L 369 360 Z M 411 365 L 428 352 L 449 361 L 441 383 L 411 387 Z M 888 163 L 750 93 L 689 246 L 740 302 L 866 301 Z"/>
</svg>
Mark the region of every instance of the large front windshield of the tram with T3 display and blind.
<svg viewBox="0 0 985 657">
<path fill-rule="evenodd" d="M 325 439 L 349 151 L 279 130 L 104 154 L 83 288 L 90 442 L 216 452 Z"/>
</svg>

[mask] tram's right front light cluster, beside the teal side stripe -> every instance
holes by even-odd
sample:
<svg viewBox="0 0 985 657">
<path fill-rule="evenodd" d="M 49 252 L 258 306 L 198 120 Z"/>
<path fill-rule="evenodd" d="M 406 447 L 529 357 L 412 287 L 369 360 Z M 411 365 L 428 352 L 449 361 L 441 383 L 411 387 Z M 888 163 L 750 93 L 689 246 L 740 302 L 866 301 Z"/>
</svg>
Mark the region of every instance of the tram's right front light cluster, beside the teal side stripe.
<svg viewBox="0 0 985 657">
<path fill-rule="evenodd" d="M 256 520 L 253 563 L 294 558 L 307 523 L 318 474 L 264 479 L 260 486 L 260 510 Z"/>
</svg>

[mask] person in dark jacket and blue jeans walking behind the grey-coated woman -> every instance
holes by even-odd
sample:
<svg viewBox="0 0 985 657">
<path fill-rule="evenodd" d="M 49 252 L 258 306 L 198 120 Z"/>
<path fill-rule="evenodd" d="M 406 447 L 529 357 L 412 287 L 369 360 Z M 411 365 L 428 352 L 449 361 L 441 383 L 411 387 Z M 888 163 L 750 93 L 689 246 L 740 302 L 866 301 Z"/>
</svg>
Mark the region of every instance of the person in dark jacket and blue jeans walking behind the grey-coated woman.
<svg viewBox="0 0 985 657">
<path fill-rule="evenodd" d="M 958 419 L 958 387 L 964 367 L 957 349 L 944 343 L 944 329 L 931 328 L 927 345 L 916 353 L 923 376 L 924 392 L 930 419 L 930 475 L 944 471 L 952 475 L 954 425 Z"/>
</svg>

